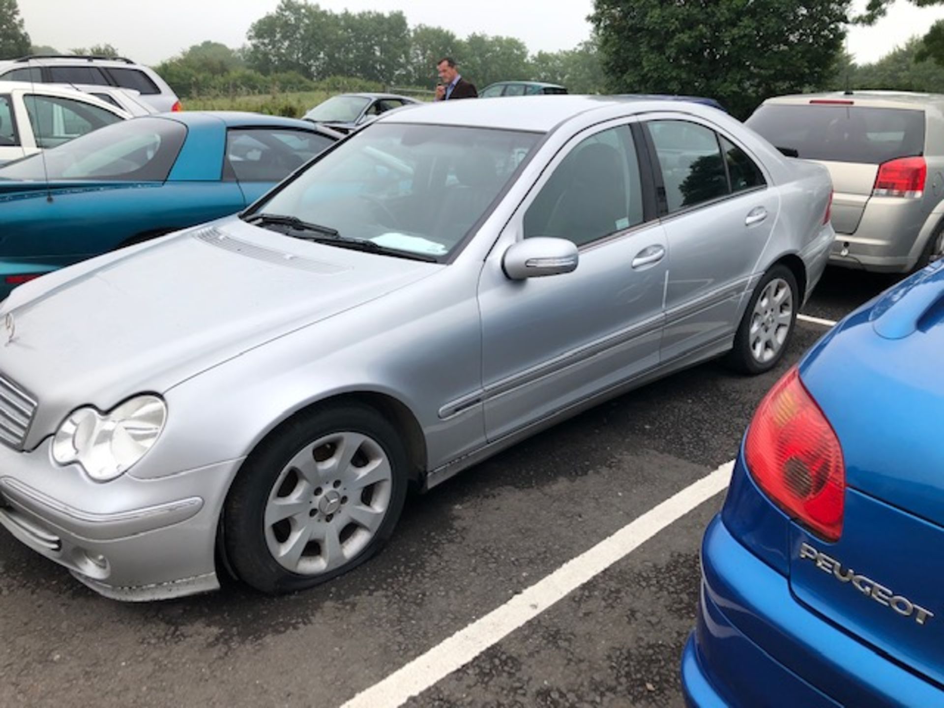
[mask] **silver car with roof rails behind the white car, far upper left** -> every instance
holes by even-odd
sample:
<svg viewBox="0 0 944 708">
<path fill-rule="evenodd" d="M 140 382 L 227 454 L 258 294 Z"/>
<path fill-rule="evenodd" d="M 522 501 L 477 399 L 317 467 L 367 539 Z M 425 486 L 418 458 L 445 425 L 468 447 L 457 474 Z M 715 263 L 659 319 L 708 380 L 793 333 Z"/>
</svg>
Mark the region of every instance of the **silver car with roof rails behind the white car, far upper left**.
<svg viewBox="0 0 944 708">
<path fill-rule="evenodd" d="M 0 61 L 0 81 L 93 84 L 130 89 L 154 110 L 181 110 L 180 100 L 153 69 L 124 57 L 32 55 Z"/>
</svg>

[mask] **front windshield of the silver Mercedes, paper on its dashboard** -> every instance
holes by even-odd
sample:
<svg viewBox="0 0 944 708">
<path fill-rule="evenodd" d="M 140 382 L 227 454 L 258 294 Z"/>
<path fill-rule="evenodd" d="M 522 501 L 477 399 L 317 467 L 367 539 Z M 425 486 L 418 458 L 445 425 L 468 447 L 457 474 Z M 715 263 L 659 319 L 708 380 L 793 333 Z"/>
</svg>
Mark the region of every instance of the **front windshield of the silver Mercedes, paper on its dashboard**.
<svg viewBox="0 0 944 708">
<path fill-rule="evenodd" d="M 539 133 L 379 124 L 338 145 L 252 216 L 446 257 L 514 177 Z"/>
</svg>

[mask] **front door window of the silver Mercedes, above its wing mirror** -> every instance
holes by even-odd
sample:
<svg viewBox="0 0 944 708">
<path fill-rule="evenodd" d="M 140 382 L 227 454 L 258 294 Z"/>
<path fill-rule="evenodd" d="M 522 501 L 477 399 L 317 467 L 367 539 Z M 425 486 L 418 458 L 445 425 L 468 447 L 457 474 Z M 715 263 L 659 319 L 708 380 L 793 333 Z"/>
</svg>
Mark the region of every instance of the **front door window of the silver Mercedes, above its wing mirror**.
<svg viewBox="0 0 944 708">
<path fill-rule="evenodd" d="M 555 236 L 588 244 L 643 221 L 639 164 L 626 126 L 578 144 L 525 213 L 525 238 Z"/>
</svg>

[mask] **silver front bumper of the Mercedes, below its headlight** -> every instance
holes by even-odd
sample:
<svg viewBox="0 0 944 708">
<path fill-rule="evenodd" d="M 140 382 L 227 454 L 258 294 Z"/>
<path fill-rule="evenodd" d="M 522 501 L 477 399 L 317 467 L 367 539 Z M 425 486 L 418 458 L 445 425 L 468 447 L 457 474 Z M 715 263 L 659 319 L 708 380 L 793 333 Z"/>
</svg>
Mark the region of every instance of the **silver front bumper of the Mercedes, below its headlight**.
<svg viewBox="0 0 944 708">
<path fill-rule="evenodd" d="M 101 483 L 54 464 L 48 440 L 31 452 L 0 446 L 0 526 L 109 598 L 213 590 L 217 520 L 241 462 Z"/>
</svg>

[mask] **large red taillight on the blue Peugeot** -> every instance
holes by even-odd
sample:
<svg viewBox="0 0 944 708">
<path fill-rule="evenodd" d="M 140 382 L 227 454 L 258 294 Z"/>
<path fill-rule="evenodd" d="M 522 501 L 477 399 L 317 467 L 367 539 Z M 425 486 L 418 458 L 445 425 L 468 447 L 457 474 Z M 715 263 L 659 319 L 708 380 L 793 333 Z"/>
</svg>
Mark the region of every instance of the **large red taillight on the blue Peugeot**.
<svg viewBox="0 0 944 708">
<path fill-rule="evenodd" d="M 744 451 L 750 475 L 786 514 L 827 541 L 839 539 L 846 490 L 842 447 L 796 367 L 761 401 Z"/>
</svg>

